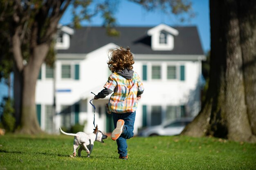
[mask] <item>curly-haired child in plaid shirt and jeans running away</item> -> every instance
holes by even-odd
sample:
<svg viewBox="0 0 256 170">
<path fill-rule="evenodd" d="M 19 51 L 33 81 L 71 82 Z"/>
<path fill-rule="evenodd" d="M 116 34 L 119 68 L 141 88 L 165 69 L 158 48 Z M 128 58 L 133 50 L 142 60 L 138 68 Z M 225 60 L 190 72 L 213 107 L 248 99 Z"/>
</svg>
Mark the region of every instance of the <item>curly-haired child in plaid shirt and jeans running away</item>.
<svg viewBox="0 0 256 170">
<path fill-rule="evenodd" d="M 108 77 L 104 89 L 94 99 L 105 98 L 111 94 L 107 104 L 108 113 L 112 113 L 115 130 L 111 134 L 112 140 L 117 140 L 119 159 L 126 159 L 126 139 L 133 137 L 137 101 L 144 92 L 139 75 L 133 69 L 133 55 L 130 48 L 115 48 L 110 50 L 108 68 L 112 74 Z"/>
</svg>

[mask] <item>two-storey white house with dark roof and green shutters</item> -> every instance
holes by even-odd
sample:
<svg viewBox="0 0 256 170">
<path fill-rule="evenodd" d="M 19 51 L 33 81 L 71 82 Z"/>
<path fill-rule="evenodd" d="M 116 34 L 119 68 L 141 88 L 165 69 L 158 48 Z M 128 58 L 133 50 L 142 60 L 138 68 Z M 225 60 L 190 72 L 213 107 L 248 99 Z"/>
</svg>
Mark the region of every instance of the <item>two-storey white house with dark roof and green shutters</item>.
<svg viewBox="0 0 256 170">
<path fill-rule="evenodd" d="M 108 37 L 102 27 L 61 27 L 55 69 L 43 64 L 36 84 L 38 120 L 44 131 L 57 133 L 60 126 L 69 128 L 76 123 L 85 124 L 86 133 L 92 131 L 91 92 L 103 89 L 111 73 L 108 51 L 117 46 L 130 47 L 134 70 L 145 88 L 136 111 L 135 134 L 143 126 L 193 117 L 200 111 L 201 61 L 205 56 L 195 26 L 160 24 L 117 30 L 119 37 Z M 103 132 L 113 129 L 105 107 L 109 97 L 92 101 L 95 124 Z"/>
</svg>

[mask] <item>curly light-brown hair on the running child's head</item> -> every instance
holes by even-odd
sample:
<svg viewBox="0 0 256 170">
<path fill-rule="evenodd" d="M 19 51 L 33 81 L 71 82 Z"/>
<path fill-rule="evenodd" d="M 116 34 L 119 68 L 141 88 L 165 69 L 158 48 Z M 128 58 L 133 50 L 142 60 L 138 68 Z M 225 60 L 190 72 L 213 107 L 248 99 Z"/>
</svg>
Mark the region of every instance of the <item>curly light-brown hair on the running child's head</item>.
<svg viewBox="0 0 256 170">
<path fill-rule="evenodd" d="M 128 70 L 133 69 L 133 55 L 130 52 L 130 48 L 117 47 L 112 50 L 110 56 L 108 57 L 108 68 L 113 72 L 122 71 L 125 68 Z"/>
</svg>

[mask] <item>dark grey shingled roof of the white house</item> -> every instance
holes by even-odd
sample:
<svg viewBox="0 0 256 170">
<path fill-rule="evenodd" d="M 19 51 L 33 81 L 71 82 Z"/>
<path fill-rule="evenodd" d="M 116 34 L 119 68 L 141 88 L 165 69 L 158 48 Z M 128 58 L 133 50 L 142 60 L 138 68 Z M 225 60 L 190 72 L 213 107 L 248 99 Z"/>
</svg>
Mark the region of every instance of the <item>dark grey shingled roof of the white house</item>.
<svg viewBox="0 0 256 170">
<path fill-rule="evenodd" d="M 83 27 L 71 35 L 70 48 L 58 53 L 89 53 L 109 43 L 129 46 L 134 54 L 204 54 L 196 26 L 173 27 L 179 31 L 174 36 L 174 49 L 154 51 L 147 31 L 153 27 L 117 27 L 119 37 L 109 37 L 103 27 Z"/>
</svg>

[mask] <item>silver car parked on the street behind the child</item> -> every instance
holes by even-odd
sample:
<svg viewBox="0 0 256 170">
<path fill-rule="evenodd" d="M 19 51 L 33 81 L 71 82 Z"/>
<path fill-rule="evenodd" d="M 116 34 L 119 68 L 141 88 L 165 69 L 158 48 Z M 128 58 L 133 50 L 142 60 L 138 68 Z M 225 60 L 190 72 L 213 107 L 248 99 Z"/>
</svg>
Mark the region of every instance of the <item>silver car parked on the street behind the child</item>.
<svg viewBox="0 0 256 170">
<path fill-rule="evenodd" d="M 172 136 L 179 135 L 184 127 L 189 124 L 193 118 L 180 118 L 157 126 L 148 126 L 146 129 L 139 131 L 138 136 L 148 137 L 148 136 Z"/>
</svg>

